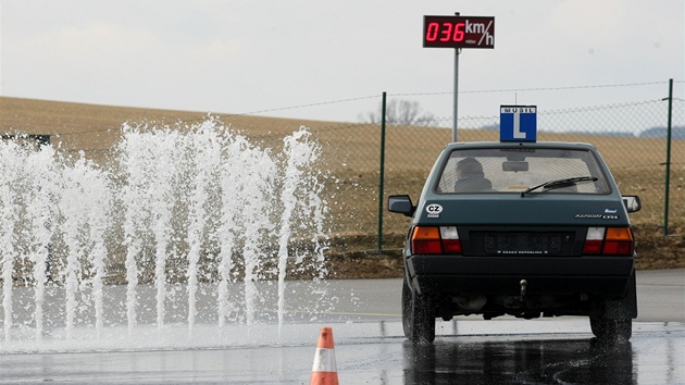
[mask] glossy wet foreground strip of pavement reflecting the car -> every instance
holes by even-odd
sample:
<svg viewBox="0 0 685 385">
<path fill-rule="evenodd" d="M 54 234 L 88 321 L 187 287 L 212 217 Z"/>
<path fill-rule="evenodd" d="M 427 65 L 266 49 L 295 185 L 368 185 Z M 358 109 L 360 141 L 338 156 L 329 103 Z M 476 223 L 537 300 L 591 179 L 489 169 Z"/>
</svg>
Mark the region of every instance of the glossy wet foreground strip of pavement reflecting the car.
<svg viewBox="0 0 685 385">
<path fill-rule="evenodd" d="M 345 325 L 333 327 L 342 336 L 335 346 L 341 384 L 685 383 L 682 325 L 645 325 L 631 343 L 611 347 L 586 333 L 444 336 L 414 347 L 397 335 L 349 338 Z M 11 355 L 0 360 L 0 381 L 307 384 L 314 345 Z"/>
</svg>

